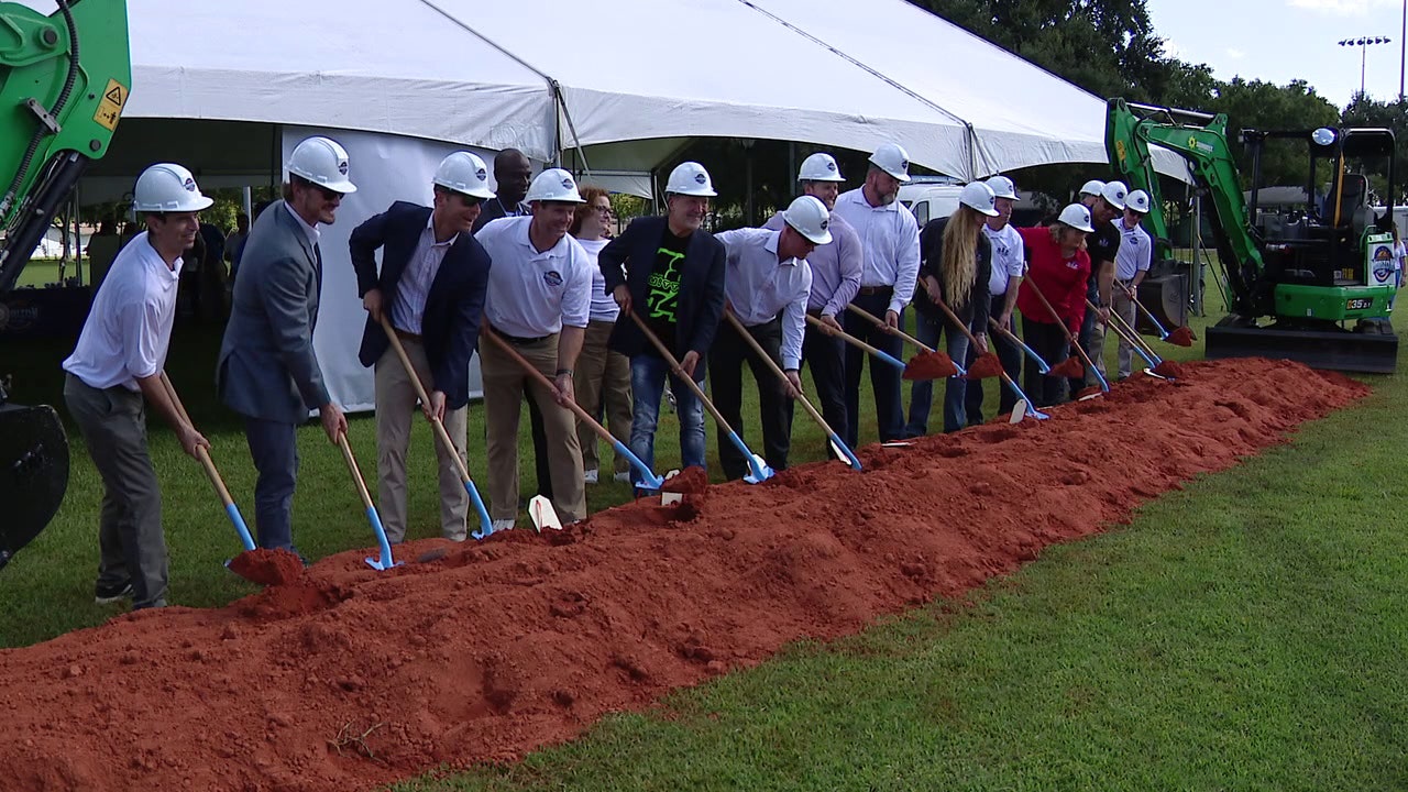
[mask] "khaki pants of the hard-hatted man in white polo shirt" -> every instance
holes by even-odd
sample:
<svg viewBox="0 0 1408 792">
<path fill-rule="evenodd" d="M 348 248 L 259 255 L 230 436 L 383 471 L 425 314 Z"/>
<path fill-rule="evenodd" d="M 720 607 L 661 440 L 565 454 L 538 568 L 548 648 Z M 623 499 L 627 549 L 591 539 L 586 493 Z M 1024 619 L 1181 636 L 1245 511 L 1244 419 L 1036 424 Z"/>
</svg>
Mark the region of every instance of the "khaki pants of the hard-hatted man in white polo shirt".
<svg viewBox="0 0 1408 792">
<path fill-rule="evenodd" d="M 503 338 L 503 337 L 500 337 Z M 558 334 L 531 344 L 504 341 L 549 380 L 558 372 Z M 587 490 L 582 478 L 582 447 L 577 444 L 576 416 L 558 404 L 553 392 L 528 375 L 500 348 L 497 341 L 480 338 L 479 375 L 484 386 L 484 423 L 489 434 L 489 513 L 494 520 L 518 516 L 518 416 L 524 390 L 542 412 L 548 435 L 548 469 L 552 474 L 552 506 L 563 521 L 587 517 Z"/>
</svg>

